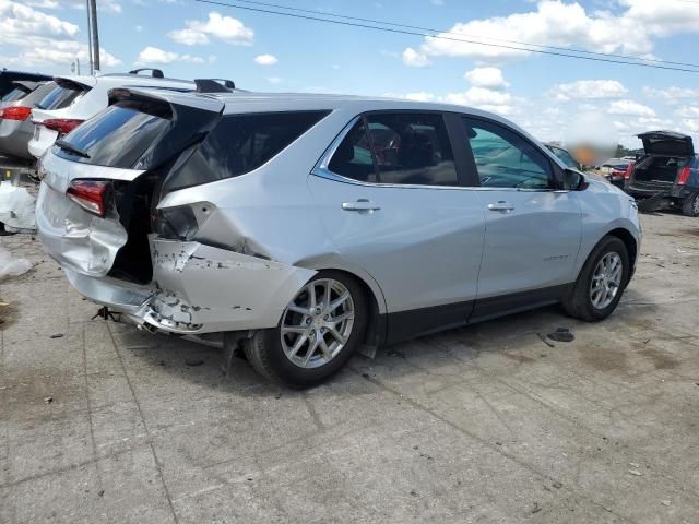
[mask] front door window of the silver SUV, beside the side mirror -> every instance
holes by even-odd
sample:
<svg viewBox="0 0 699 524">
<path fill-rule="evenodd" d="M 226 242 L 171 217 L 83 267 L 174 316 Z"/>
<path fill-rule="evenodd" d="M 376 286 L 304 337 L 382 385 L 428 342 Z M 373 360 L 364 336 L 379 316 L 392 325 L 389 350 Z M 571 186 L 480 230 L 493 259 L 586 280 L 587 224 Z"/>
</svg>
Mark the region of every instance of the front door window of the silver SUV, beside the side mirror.
<svg viewBox="0 0 699 524">
<path fill-rule="evenodd" d="M 464 118 L 463 122 L 482 187 L 555 187 L 548 158 L 532 143 L 494 122 L 469 118 Z"/>
</svg>

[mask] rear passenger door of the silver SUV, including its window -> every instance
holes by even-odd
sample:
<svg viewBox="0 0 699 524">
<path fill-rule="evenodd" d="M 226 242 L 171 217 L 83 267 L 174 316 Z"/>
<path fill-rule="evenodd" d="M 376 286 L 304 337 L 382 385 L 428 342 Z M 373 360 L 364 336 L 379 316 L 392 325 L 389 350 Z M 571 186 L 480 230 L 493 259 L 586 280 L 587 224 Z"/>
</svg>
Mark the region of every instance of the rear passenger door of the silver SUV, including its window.
<svg viewBox="0 0 699 524">
<path fill-rule="evenodd" d="M 335 249 L 378 282 L 398 338 L 471 313 L 484 218 L 457 164 L 442 114 L 371 112 L 309 177 Z"/>
</svg>

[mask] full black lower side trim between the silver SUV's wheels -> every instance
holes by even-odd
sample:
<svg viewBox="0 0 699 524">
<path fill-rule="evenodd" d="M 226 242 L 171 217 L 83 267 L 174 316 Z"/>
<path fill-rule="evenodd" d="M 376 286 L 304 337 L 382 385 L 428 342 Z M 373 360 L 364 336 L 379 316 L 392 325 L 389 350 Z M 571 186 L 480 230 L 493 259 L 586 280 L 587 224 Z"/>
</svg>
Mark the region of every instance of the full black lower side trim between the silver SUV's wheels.
<svg viewBox="0 0 699 524">
<path fill-rule="evenodd" d="M 571 283 L 481 300 L 381 314 L 378 323 L 386 325 L 383 344 L 395 344 L 417 336 L 557 303 L 570 293 L 572 286 Z"/>
</svg>

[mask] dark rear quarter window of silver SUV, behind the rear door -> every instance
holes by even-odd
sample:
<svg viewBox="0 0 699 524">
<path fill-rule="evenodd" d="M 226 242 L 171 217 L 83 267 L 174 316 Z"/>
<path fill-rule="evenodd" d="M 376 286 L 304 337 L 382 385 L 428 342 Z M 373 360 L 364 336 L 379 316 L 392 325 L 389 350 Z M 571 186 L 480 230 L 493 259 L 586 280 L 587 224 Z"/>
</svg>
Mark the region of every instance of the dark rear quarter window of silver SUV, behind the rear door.
<svg viewBox="0 0 699 524">
<path fill-rule="evenodd" d="M 250 172 L 280 154 L 329 111 L 263 112 L 223 117 L 165 181 L 167 193 Z"/>
</svg>

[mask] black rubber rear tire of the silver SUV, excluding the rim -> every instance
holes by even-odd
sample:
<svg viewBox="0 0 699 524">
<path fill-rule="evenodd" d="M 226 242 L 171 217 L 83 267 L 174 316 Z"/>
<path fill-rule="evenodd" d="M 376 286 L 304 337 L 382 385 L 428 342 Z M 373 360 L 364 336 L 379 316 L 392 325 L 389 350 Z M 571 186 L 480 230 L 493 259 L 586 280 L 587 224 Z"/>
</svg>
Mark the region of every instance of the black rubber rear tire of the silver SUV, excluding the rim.
<svg viewBox="0 0 699 524">
<path fill-rule="evenodd" d="M 368 300 L 362 285 L 351 275 L 340 271 L 321 271 L 311 281 L 333 278 L 343 284 L 354 301 L 354 325 L 344 347 L 329 362 L 317 368 L 301 368 L 292 362 L 281 343 L 281 324 L 260 330 L 244 342 L 245 355 L 262 377 L 293 389 L 318 385 L 336 373 L 364 340 L 368 320 Z"/>
</svg>

